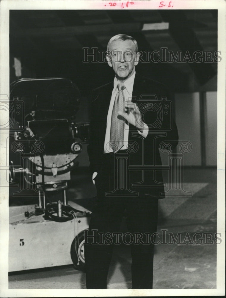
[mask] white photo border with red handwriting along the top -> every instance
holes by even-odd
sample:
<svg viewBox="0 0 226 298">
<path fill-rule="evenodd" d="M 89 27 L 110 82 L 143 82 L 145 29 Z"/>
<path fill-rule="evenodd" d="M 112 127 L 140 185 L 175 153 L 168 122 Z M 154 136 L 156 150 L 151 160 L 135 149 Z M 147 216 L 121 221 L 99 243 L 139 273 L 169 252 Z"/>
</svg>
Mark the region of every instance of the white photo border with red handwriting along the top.
<svg viewBox="0 0 226 298">
<path fill-rule="evenodd" d="M 109 9 L 104 6 L 105 0 L 1 0 L 0 18 L 0 94 L 9 94 L 9 13 L 13 10 L 39 9 Z M 122 1 L 115 0 L 116 3 Z M 126 8 L 130 10 L 151 9 L 158 10 L 160 1 L 135 0 L 134 5 Z M 225 295 L 225 1 L 224 0 L 173 0 L 170 9 L 217 9 L 218 10 L 218 50 L 222 60 L 218 63 L 217 75 L 217 232 L 221 233 L 222 243 L 217 245 L 217 288 L 216 289 L 109 289 L 109 290 L 78 290 L 78 289 L 9 289 L 8 288 L 8 237 L 9 237 L 9 207 L 8 187 L 6 185 L 6 170 L 0 168 L 1 174 L 1 203 L 0 203 L 0 296 L 1 297 L 121 297 L 121 296 L 221 296 Z M 112 9 L 121 9 L 116 5 Z M 161 9 L 168 9 L 161 8 Z M 2 114 L 4 123 L 9 115 Z M 7 118 L 8 117 L 8 118 Z M 1 161 L 9 156 L 6 146 L 7 136 L 1 134 Z M 3 163 L 0 163 L 0 166 Z"/>
</svg>

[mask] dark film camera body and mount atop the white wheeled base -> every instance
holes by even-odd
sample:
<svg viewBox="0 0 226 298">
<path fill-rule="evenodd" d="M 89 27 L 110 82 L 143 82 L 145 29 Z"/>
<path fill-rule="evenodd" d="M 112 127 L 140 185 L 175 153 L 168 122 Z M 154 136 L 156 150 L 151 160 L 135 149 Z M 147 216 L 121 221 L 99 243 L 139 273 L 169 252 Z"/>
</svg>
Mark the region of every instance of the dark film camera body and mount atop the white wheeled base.
<svg viewBox="0 0 226 298">
<path fill-rule="evenodd" d="M 67 187 L 82 144 L 89 141 L 89 124 L 76 123 L 79 103 L 78 87 L 65 78 L 20 79 L 11 84 L 6 101 L 10 182 L 12 187 L 18 182 L 20 187 L 12 198 L 24 197 L 31 189 L 31 196 L 40 196 L 40 191 Z"/>
</svg>

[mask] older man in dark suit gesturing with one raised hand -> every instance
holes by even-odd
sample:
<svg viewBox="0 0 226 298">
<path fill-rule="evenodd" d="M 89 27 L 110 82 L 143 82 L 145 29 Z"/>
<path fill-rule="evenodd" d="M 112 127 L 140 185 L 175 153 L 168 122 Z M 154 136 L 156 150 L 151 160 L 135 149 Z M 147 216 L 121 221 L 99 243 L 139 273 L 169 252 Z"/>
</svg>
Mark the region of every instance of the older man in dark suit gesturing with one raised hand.
<svg viewBox="0 0 226 298">
<path fill-rule="evenodd" d="M 169 117 L 168 103 L 161 103 L 169 99 L 165 87 L 135 72 L 139 52 L 134 38 L 124 34 L 112 37 L 107 61 L 115 77 L 92 92 L 87 148 L 97 189 L 97 206 L 85 245 L 87 288 L 107 287 L 117 241 L 107 241 L 107 235 L 116 235 L 126 210 L 128 231 L 141 237 L 131 243 L 132 288 L 151 289 L 154 244 L 143 243 L 145 235 L 156 232 L 158 198 L 164 197 L 158 147 L 162 141 L 174 141 L 171 146 L 175 147 L 178 132 Z"/>
</svg>

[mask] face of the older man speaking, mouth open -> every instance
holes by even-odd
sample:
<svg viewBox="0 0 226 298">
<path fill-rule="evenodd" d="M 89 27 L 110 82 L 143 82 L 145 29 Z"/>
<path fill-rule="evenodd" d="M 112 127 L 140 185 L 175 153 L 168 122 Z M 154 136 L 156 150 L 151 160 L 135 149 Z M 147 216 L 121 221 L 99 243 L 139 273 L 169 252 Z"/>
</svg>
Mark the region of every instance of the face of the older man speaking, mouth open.
<svg viewBox="0 0 226 298">
<path fill-rule="evenodd" d="M 139 53 L 135 50 L 136 46 L 131 40 L 112 41 L 109 45 L 108 64 L 114 69 L 118 80 L 125 81 L 134 73 L 139 59 Z"/>
</svg>

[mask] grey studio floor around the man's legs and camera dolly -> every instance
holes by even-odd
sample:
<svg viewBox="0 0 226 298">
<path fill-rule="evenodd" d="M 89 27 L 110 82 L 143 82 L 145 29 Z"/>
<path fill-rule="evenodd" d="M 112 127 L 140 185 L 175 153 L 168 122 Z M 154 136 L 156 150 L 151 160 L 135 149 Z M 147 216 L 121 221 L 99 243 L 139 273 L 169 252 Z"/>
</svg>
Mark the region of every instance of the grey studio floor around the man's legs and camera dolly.
<svg viewBox="0 0 226 298">
<path fill-rule="evenodd" d="M 73 174 L 67 191 L 68 200 L 92 210 L 95 187 L 87 169 Z M 216 288 L 216 246 L 211 240 L 191 244 L 185 239 L 195 233 L 216 233 L 216 169 L 185 168 L 183 190 L 192 196 L 167 196 L 159 201 L 158 232 L 167 230 L 181 242 L 158 244 L 154 254 L 153 288 Z M 126 230 L 122 222 L 122 231 Z M 205 235 L 205 234 L 203 234 Z M 212 235 L 212 234 L 211 234 Z M 208 244 L 206 243 L 208 242 Z M 131 256 L 128 245 L 114 247 L 108 275 L 108 288 L 131 288 Z M 14 289 L 85 289 L 85 273 L 71 265 L 10 272 L 9 288 Z"/>
</svg>

